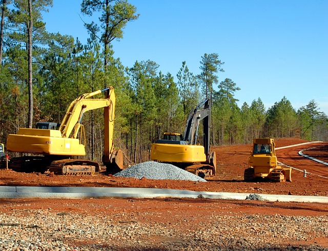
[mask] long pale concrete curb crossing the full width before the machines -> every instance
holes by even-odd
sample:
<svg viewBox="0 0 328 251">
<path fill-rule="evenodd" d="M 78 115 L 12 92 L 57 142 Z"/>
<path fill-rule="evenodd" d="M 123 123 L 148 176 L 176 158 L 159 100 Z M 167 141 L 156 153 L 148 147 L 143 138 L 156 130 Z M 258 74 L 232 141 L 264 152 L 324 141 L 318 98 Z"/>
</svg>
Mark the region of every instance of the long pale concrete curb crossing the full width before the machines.
<svg viewBox="0 0 328 251">
<path fill-rule="evenodd" d="M 208 198 L 245 200 L 248 193 L 195 192 L 134 187 L 0 186 L 0 198 Z M 254 196 L 253 196 L 254 197 Z M 326 196 L 257 194 L 259 200 L 328 203 Z"/>
</svg>

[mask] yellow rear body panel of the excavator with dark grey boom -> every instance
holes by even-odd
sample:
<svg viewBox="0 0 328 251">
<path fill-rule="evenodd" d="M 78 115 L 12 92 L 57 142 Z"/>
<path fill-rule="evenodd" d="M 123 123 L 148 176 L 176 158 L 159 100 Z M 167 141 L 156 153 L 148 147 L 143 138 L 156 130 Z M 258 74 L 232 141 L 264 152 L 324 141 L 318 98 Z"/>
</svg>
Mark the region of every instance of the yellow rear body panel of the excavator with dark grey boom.
<svg viewBox="0 0 328 251">
<path fill-rule="evenodd" d="M 206 162 L 202 145 L 160 144 L 153 143 L 151 159 L 161 162 Z"/>
</svg>

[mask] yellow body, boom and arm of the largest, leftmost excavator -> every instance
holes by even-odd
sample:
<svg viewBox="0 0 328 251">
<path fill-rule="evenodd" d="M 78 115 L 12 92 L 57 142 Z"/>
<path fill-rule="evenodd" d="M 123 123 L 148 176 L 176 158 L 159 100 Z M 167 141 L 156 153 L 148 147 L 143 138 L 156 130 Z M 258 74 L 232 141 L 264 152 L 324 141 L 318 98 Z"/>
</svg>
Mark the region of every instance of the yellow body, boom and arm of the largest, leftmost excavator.
<svg viewBox="0 0 328 251">
<path fill-rule="evenodd" d="M 103 90 L 104 91 L 104 90 Z M 113 127 L 115 119 L 115 93 L 113 87 L 106 89 L 106 97 L 91 99 L 101 90 L 86 93 L 71 102 L 59 130 L 20 128 L 17 134 L 9 134 L 7 150 L 10 152 L 57 155 L 84 156 L 85 131 L 81 124 L 83 114 L 87 111 L 104 108 L 104 163 L 111 163 L 117 153 L 114 151 Z M 121 155 L 121 152 L 119 152 Z M 121 158 L 121 167 L 122 167 Z"/>
</svg>

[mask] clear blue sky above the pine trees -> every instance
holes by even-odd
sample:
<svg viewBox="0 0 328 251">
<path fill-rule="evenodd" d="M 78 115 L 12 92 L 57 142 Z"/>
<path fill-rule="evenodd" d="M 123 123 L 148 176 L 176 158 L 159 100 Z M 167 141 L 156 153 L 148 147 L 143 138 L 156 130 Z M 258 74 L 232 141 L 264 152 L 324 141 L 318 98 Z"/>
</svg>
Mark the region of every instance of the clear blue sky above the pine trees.
<svg viewBox="0 0 328 251">
<path fill-rule="evenodd" d="M 96 17 L 80 13 L 78 0 L 53 0 L 44 14 L 49 32 L 78 37 L 86 44 L 83 26 Z M 327 0 L 129 0 L 139 18 L 127 24 L 114 41 L 114 56 L 124 66 L 152 60 L 159 70 L 176 74 L 186 64 L 199 74 L 204 53 L 218 53 L 235 93 L 249 105 L 261 98 L 269 109 L 283 96 L 298 110 L 314 99 L 328 115 Z"/>
</svg>

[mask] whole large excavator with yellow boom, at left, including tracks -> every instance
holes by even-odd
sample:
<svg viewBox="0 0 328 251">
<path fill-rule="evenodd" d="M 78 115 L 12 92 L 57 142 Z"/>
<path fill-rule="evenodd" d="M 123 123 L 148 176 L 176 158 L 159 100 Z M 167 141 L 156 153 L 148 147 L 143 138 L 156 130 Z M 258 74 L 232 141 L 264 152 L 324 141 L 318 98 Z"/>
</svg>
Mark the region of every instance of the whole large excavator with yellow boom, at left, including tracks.
<svg viewBox="0 0 328 251">
<path fill-rule="evenodd" d="M 105 92 L 105 98 L 91 98 L 101 92 Z M 114 149 L 113 144 L 113 87 L 80 95 L 72 101 L 58 130 L 55 130 L 50 122 L 46 122 L 43 127 L 37 129 L 20 128 L 17 134 L 9 134 L 7 151 L 28 155 L 12 158 L 9 168 L 23 172 L 46 169 L 54 174 L 64 175 L 97 174 L 100 171 L 98 162 L 78 159 L 76 156 L 86 155 L 86 136 L 84 125 L 81 124 L 83 115 L 87 111 L 99 108 L 104 108 L 103 163 L 108 173 L 119 172 L 123 168 L 123 155 L 121 150 Z"/>
</svg>

